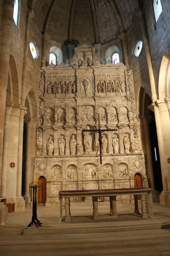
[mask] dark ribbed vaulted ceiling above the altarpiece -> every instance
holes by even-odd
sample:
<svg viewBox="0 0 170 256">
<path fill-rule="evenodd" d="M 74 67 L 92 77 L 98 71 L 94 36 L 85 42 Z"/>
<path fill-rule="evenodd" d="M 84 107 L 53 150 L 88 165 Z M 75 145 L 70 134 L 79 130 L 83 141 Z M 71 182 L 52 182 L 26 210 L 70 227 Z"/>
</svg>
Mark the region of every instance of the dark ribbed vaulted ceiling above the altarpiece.
<svg viewBox="0 0 170 256">
<path fill-rule="evenodd" d="M 128 31 L 139 7 L 137 0 L 28 0 L 27 5 L 40 30 L 61 44 L 112 40 Z"/>
</svg>

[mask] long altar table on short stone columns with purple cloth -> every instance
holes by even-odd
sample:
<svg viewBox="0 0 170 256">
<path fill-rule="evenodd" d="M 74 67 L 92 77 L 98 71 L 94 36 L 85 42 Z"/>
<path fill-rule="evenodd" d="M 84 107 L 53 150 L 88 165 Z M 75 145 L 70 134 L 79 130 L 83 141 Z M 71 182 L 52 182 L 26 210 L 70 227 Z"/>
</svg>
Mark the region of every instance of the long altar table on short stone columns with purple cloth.
<svg viewBox="0 0 170 256">
<path fill-rule="evenodd" d="M 65 222 L 70 222 L 70 197 L 92 196 L 93 219 L 100 219 L 98 213 L 98 197 L 108 196 L 110 198 L 109 218 L 117 218 L 116 196 L 134 195 L 135 210 L 134 214 L 140 214 L 138 210 L 137 195 L 141 196 L 142 218 L 153 216 L 153 202 L 151 188 L 115 188 L 115 189 L 94 189 L 94 190 L 62 190 L 59 192 L 59 222 L 63 218 L 62 199 L 65 200 Z"/>
</svg>

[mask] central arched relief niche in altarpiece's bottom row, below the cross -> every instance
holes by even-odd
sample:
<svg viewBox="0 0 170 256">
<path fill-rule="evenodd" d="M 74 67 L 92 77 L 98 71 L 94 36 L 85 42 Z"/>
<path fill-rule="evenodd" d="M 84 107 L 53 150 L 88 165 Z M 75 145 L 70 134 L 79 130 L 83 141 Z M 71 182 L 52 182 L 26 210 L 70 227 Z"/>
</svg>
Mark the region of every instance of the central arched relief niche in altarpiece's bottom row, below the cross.
<svg viewBox="0 0 170 256">
<path fill-rule="evenodd" d="M 96 164 L 87 163 L 82 167 L 83 180 L 95 180 L 98 179 L 98 167 Z"/>
</svg>

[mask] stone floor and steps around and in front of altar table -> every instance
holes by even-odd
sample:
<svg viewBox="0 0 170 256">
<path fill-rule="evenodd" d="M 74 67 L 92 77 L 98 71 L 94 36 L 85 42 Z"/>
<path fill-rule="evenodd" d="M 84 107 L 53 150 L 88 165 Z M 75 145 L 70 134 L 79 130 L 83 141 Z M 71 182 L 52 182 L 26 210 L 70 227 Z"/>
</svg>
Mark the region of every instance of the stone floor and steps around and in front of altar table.
<svg viewBox="0 0 170 256">
<path fill-rule="evenodd" d="M 134 204 L 117 203 L 118 219 L 106 220 L 92 220 L 92 201 L 90 200 L 86 202 L 71 202 L 70 207 L 72 216 L 70 223 L 64 223 L 64 221 L 59 223 L 59 206 L 38 206 L 37 217 L 43 223 L 42 227 L 36 229 L 0 227 L 0 252 L 2 251 L 1 255 L 34 255 L 32 250 L 36 250 L 36 254 L 38 253 L 37 255 L 48 254 L 57 256 L 170 255 L 170 225 L 167 224 L 166 226 L 147 228 L 147 226 L 151 224 L 162 225 L 163 223 L 170 223 L 170 205 L 165 206 L 155 203 L 153 208 L 154 218 L 142 219 L 141 216 L 136 216 L 133 214 Z M 109 207 L 109 201 L 99 202 L 99 214 L 109 213 Z M 140 202 L 139 211 L 141 212 Z M 64 212 L 65 210 L 63 209 L 63 213 Z M 30 223 L 31 219 L 32 208 L 29 207 L 21 212 L 9 213 L 7 225 L 17 227 L 27 226 Z M 130 228 L 132 226 L 133 228 Z M 34 227 L 34 225 L 32 225 L 32 227 Z M 50 230 L 42 228 L 58 228 L 59 230 Z M 76 230 L 76 228 L 79 228 L 79 230 Z M 114 230 L 109 228 L 116 229 Z M 134 244 L 136 239 L 138 239 L 138 242 L 137 244 Z M 166 242 L 165 240 L 163 242 L 163 239 L 166 239 Z M 69 249 L 66 249 L 70 241 L 71 246 L 73 248 L 71 252 L 69 251 Z M 98 250 L 98 252 L 94 252 L 96 241 L 100 241 L 99 247 L 102 246 L 102 248 Z M 102 244 L 102 241 L 105 241 L 105 243 Z M 118 242 L 120 241 L 123 241 L 122 244 L 127 243 L 126 246 L 128 248 L 125 252 L 121 250 L 122 247 L 120 244 L 118 244 Z M 106 243 L 109 243 L 107 247 L 109 251 L 106 250 L 105 248 Z M 39 250 L 37 247 L 38 245 L 36 244 L 39 244 L 39 246 L 41 245 L 41 247 L 43 244 L 45 249 Z M 79 248 L 80 244 L 84 244 L 85 248 Z M 138 254 L 137 247 L 139 246 L 139 244 L 140 252 L 143 250 L 145 252 L 144 254 Z M 143 247 L 141 247 L 141 244 Z M 28 245 L 30 245 L 29 249 Z M 36 247 L 34 248 L 35 245 Z M 56 246 L 58 247 L 56 248 Z M 74 246 L 77 249 L 74 249 Z M 153 247 L 153 250 L 151 249 L 151 247 Z M 9 248 L 12 248 L 13 253 L 9 253 L 11 252 Z M 91 250 L 92 248 L 93 252 Z M 149 252 L 148 250 L 152 252 Z M 39 251 L 41 251 L 41 253 Z M 129 252 L 129 254 L 127 252 Z"/>
</svg>

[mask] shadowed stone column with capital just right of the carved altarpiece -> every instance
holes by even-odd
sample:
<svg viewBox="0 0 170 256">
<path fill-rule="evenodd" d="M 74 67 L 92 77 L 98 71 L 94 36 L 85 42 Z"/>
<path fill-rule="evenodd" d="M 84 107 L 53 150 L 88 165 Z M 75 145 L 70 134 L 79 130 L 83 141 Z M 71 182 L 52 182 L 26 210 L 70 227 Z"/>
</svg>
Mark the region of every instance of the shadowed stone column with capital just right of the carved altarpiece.
<svg viewBox="0 0 170 256">
<path fill-rule="evenodd" d="M 146 145 L 146 156 L 147 156 L 147 176 L 150 178 L 151 188 L 155 190 L 154 175 L 153 175 L 153 164 L 152 164 L 152 151 L 151 151 L 151 139 L 149 133 L 149 123 L 151 122 L 152 116 L 141 116 L 144 123 L 144 134 L 145 134 L 145 145 Z"/>
</svg>

